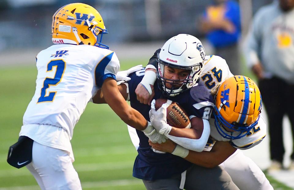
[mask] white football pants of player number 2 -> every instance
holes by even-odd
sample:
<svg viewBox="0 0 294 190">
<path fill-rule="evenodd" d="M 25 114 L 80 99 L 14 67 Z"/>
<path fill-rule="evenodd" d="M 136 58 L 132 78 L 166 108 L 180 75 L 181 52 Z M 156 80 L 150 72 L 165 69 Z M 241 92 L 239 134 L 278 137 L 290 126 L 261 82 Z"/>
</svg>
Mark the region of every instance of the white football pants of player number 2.
<svg viewBox="0 0 294 190">
<path fill-rule="evenodd" d="M 42 190 L 80 190 L 81 182 L 65 150 L 33 143 L 32 162 L 26 165 Z"/>
</svg>

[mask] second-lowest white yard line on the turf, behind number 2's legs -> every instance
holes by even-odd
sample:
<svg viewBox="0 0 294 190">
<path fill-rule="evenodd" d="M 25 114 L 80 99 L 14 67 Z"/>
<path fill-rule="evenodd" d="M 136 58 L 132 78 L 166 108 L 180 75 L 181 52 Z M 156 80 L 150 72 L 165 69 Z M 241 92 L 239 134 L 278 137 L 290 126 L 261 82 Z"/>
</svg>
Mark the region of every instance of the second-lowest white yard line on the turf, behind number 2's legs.
<svg viewBox="0 0 294 190">
<path fill-rule="evenodd" d="M 116 170 L 132 168 L 134 162 L 106 162 L 97 164 L 74 164 L 74 168 L 79 172 L 101 171 L 101 170 Z M 11 166 L 11 169 L 0 170 L 0 177 L 17 177 L 28 176 L 31 173 L 25 169 L 16 169 Z M 130 174 L 131 175 L 131 174 Z"/>
</svg>

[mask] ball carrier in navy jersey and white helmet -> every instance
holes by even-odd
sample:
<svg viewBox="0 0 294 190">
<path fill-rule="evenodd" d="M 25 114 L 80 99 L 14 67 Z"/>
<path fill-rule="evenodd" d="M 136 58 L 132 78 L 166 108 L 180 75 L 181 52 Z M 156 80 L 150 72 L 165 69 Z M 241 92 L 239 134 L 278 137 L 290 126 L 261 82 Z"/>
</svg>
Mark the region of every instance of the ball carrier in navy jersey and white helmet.
<svg viewBox="0 0 294 190">
<path fill-rule="evenodd" d="M 150 116 L 154 117 L 155 129 L 150 132 L 136 130 L 140 142 L 133 176 L 142 179 L 147 189 L 238 189 L 228 173 L 219 166 L 209 169 L 183 159 L 187 156 L 185 148 L 201 152 L 210 133 L 208 120 L 213 109 L 213 97 L 205 86 L 196 85 L 204 58 L 201 42 L 187 34 L 169 39 L 158 54 L 160 66 L 159 77 L 155 81 L 154 99 L 166 98 L 179 103 L 190 116 L 191 128 L 169 126 L 166 119 L 164 122 L 163 108 L 158 112 L 150 111 L 150 105 L 138 101 L 135 89 L 141 82 L 145 69 L 131 73 L 129 81 L 118 85 L 119 91 L 130 101 L 132 108 L 147 120 L 149 111 Z M 93 102 L 104 103 L 103 94 L 97 93 Z M 154 151 L 148 142 L 150 139 L 153 143 L 161 143 L 166 138 L 180 145 L 171 154 Z M 207 183 L 207 179 L 213 183 Z"/>
</svg>

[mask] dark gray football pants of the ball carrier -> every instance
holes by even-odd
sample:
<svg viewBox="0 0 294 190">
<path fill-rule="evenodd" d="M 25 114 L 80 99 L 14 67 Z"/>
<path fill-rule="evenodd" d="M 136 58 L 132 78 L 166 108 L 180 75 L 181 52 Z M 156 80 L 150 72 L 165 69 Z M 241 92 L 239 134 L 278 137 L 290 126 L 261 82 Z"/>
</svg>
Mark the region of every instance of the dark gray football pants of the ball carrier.
<svg viewBox="0 0 294 190">
<path fill-rule="evenodd" d="M 147 190 L 179 190 L 183 187 L 186 190 L 239 190 L 229 174 L 219 166 L 209 169 L 193 165 L 187 169 L 186 179 L 183 174 L 177 174 L 170 179 L 143 180 L 143 183 Z"/>
</svg>

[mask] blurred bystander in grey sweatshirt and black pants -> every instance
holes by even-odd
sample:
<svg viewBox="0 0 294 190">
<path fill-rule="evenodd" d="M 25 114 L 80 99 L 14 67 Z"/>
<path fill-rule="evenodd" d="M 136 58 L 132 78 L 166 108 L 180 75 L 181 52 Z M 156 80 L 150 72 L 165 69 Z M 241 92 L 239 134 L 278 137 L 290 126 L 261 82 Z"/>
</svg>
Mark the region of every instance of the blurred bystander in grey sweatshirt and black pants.
<svg viewBox="0 0 294 190">
<path fill-rule="evenodd" d="M 269 170 L 283 168 L 282 122 L 288 115 L 294 136 L 294 0 L 274 1 L 254 16 L 247 42 L 247 64 L 258 78 L 270 137 Z M 294 153 L 290 168 L 294 169 Z"/>
</svg>

